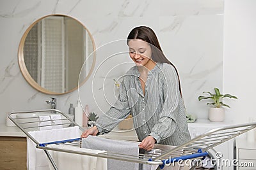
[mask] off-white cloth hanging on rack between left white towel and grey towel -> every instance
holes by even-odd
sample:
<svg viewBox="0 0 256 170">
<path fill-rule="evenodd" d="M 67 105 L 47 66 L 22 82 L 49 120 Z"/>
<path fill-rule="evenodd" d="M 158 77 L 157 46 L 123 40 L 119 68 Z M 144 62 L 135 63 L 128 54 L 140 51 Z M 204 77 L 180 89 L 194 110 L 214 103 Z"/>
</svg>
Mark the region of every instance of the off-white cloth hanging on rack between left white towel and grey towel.
<svg viewBox="0 0 256 170">
<path fill-rule="evenodd" d="M 79 152 L 87 152 L 87 153 L 105 152 L 105 151 L 90 150 L 86 148 L 79 148 L 79 147 L 67 146 L 67 145 L 49 145 L 48 147 L 79 151 Z M 74 153 L 56 152 L 52 150 L 50 150 L 49 153 L 52 155 L 52 159 L 54 159 L 54 162 L 58 167 L 58 169 L 61 169 L 61 170 L 66 170 L 66 169 L 67 170 L 70 170 L 70 169 L 107 170 L 108 169 L 108 163 L 106 158 L 92 157 L 88 155 L 79 155 Z M 50 161 L 49 161 L 49 167 L 50 169 L 54 169 Z"/>
</svg>

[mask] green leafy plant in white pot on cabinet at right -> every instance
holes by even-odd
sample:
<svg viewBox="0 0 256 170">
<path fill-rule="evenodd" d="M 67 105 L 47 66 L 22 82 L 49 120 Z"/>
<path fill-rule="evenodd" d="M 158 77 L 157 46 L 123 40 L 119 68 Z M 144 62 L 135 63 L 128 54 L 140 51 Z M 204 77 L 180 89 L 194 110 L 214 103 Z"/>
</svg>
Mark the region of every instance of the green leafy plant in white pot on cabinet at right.
<svg viewBox="0 0 256 170">
<path fill-rule="evenodd" d="M 223 122 L 225 118 L 225 110 L 222 106 L 230 108 L 227 104 L 224 104 L 222 99 L 225 97 L 237 99 L 236 96 L 232 96 L 230 94 L 220 94 L 220 90 L 218 88 L 214 88 L 215 94 L 211 92 L 203 92 L 203 94 L 208 94 L 208 96 L 199 96 L 198 101 L 204 99 L 211 99 L 212 103 L 207 103 L 207 105 L 213 105 L 213 108 L 209 109 L 209 120 L 212 122 Z"/>
</svg>

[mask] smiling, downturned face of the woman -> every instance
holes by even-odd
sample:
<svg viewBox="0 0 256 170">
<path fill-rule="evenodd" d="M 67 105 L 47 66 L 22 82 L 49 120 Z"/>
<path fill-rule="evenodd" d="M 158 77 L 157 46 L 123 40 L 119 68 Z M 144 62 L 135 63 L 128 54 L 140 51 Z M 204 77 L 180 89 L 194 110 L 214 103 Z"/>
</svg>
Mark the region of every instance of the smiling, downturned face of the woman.
<svg viewBox="0 0 256 170">
<path fill-rule="evenodd" d="M 129 55 L 136 66 L 147 67 L 148 61 L 152 57 L 151 46 L 141 39 L 131 39 L 128 42 Z"/>
</svg>

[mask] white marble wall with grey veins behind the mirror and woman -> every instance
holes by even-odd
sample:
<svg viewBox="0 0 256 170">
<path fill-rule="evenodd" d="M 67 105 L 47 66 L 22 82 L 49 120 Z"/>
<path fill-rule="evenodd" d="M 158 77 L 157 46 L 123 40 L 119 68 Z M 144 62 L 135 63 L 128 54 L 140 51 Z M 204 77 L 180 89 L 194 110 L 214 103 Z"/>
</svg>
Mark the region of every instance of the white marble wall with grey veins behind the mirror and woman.
<svg viewBox="0 0 256 170">
<path fill-rule="evenodd" d="M 204 101 L 198 102 L 197 97 L 214 87 L 222 89 L 223 6 L 223 0 L 0 1 L 0 123 L 4 122 L 8 111 L 49 108 L 45 101 L 50 97 L 57 98 L 57 107 L 64 112 L 68 111 L 70 103 L 76 103 L 79 96 L 83 105 L 89 104 L 90 111 L 96 113 L 109 108 L 104 91 L 111 91 L 109 100 L 115 100 L 115 86 L 111 81 L 114 83 L 113 78 L 125 73 L 129 64 L 116 67 L 113 74 L 104 79 L 97 74 L 97 68 L 108 55 L 97 56 L 95 70 L 79 92 L 52 96 L 38 92 L 26 82 L 20 73 L 17 57 L 20 38 L 36 19 L 50 14 L 69 15 L 82 22 L 92 33 L 97 48 L 125 39 L 135 26 L 152 27 L 166 57 L 179 70 L 188 113 L 207 118 L 208 108 Z M 124 55 L 126 60 L 131 62 L 127 54 Z M 97 88 L 93 89 L 93 85 Z M 103 88 L 104 85 L 106 88 Z M 99 99 L 97 96 L 100 95 L 103 97 Z"/>
</svg>

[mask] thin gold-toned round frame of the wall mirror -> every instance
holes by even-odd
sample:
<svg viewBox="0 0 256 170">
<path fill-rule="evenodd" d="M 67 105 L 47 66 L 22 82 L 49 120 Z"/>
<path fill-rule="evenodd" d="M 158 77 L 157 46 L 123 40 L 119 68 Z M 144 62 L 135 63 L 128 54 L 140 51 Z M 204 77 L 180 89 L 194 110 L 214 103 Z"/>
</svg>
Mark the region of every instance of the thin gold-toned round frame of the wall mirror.
<svg viewBox="0 0 256 170">
<path fill-rule="evenodd" d="M 29 85 L 31 85 L 34 89 L 38 90 L 39 92 L 42 92 L 44 94 L 51 94 L 51 95 L 61 95 L 61 94 L 67 94 L 69 92 L 73 92 L 74 90 L 78 89 L 78 80 L 77 80 L 77 87 L 71 89 L 71 90 L 68 90 L 67 92 L 63 92 L 63 93 L 60 93 L 60 92 L 52 92 L 51 90 L 47 90 L 45 89 L 44 87 L 40 86 L 32 77 L 31 75 L 29 74 L 29 71 L 26 67 L 26 64 L 25 64 L 25 60 L 24 60 L 24 44 L 25 44 L 25 40 L 26 40 L 26 37 L 28 36 L 28 33 L 29 31 L 31 31 L 32 27 L 37 24 L 38 22 L 40 22 L 40 20 L 46 18 L 46 17 L 54 17 L 54 16 L 60 16 L 60 17 L 69 17 L 67 15 L 46 15 L 45 17 L 42 17 L 42 18 L 39 18 L 38 20 L 36 20 L 35 22 L 33 22 L 33 24 L 31 24 L 28 29 L 24 32 L 21 40 L 20 40 L 20 44 L 19 44 L 19 50 L 18 50 L 18 61 L 19 61 L 19 67 L 20 67 L 20 71 L 22 73 L 22 75 L 24 76 L 24 78 L 26 79 L 26 81 L 28 81 Z M 69 17 L 69 18 L 72 18 L 72 17 Z M 76 20 L 76 18 L 72 18 L 74 20 Z M 76 20 L 79 24 L 81 24 L 84 29 L 88 32 L 88 35 L 90 37 L 90 39 L 92 40 L 92 45 L 93 45 L 93 51 L 95 51 L 95 42 L 92 38 L 92 34 L 90 34 L 90 32 L 88 31 L 88 29 L 81 23 L 79 22 L 78 20 Z M 88 57 L 88 56 L 87 56 Z M 92 61 L 92 67 L 90 68 L 90 71 L 89 73 L 87 74 L 86 78 L 84 78 L 84 80 L 79 83 L 79 86 L 83 85 L 87 80 L 88 78 L 90 77 L 90 75 L 92 74 L 92 71 L 95 67 L 95 61 L 96 61 L 96 56 L 95 56 L 95 53 L 93 52 L 93 61 Z M 82 66 L 83 67 L 83 66 Z M 79 79 L 79 78 L 78 78 Z M 80 80 L 81 81 L 81 80 Z"/>
</svg>

